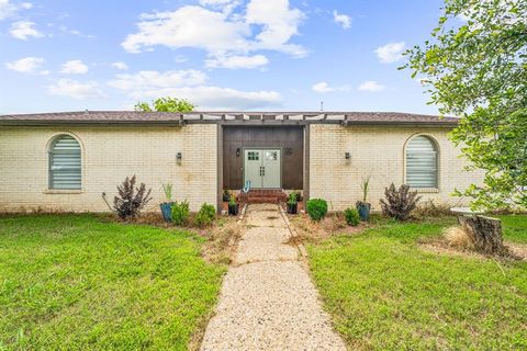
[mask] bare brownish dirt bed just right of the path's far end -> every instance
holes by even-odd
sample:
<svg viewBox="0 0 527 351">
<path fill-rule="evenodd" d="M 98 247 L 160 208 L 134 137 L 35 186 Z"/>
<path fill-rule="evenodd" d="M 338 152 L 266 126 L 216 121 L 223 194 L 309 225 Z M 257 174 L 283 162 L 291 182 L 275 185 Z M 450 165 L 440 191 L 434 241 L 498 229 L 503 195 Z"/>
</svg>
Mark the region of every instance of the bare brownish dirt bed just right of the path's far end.
<svg viewBox="0 0 527 351">
<path fill-rule="evenodd" d="M 362 231 L 368 224 L 360 223 L 356 227 L 348 226 L 343 213 L 328 214 L 321 222 L 314 222 L 306 214 L 288 215 L 291 227 L 296 234 L 289 244 L 303 241 L 318 242 L 335 235 L 354 235 Z"/>
</svg>

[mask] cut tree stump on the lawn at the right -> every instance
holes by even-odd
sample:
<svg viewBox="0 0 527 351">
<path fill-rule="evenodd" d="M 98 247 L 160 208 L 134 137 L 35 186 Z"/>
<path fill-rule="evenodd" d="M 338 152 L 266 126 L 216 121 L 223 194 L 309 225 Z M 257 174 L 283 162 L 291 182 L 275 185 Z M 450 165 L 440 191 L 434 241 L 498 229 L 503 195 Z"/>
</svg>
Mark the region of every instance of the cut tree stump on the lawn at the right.
<svg viewBox="0 0 527 351">
<path fill-rule="evenodd" d="M 464 218 L 464 227 L 476 251 L 487 254 L 501 254 L 506 251 L 503 246 L 502 222 L 497 218 L 472 216 Z"/>
</svg>

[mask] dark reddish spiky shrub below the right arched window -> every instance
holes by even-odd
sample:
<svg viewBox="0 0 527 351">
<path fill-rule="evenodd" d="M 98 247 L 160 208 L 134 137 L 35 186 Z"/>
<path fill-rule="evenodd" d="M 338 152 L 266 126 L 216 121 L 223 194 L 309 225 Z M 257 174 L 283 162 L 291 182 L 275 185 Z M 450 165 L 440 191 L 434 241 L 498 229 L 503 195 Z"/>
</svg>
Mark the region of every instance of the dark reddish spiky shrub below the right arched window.
<svg viewBox="0 0 527 351">
<path fill-rule="evenodd" d="M 381 200 L 382 213 L 397 220 L 408 219 L 422 197 L 417 191 L 410 191 L 408 185 L 402 184 L 396 190 L 393 183 L 384 190 L 384 195 L 386 201 Z"/>
</svg>

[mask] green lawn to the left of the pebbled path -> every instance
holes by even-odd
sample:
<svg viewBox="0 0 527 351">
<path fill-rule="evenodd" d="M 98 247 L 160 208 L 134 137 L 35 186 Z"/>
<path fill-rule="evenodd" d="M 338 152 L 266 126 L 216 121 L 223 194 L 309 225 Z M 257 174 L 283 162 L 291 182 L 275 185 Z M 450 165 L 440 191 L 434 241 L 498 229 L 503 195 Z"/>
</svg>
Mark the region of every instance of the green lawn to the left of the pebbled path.
<svg viewBox="0 0 527 351">
<path fill-rule="evenodd" d="M 0 350 L 186 350 L 225 272 L 201 245 L 94 215 L 0 217 Z"/>
</svg>

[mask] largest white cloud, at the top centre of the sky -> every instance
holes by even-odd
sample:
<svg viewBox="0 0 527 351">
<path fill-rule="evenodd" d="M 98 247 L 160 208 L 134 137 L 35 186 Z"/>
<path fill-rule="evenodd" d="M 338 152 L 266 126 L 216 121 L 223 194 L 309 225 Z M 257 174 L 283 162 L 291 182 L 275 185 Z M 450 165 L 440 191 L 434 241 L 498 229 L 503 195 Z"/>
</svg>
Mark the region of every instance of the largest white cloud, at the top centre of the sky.
<svg viewBox="0 0 527 351">
<path fill-rule="evenodd" d="M 224 61 L 225 57 L 249 57 L 249 53 L 261 49 L 296 57 L 306 54 L 302 46 L 290 43 L 304 14 L 291 9 L 289 0 L 250 0 L 245 12 L 234 14 L 216 9 L 238 5 L 238 1 L 202 0 L 200 3 L 208 8 L 186 5 L 176 11 L 142 14 L 137 33 L 126 36 L 123 48 L 139 53 L 157 45 L 173 49 L 192 47 L 205 50 L 213 63 Z M 261 55 L 258 60 L 261 61 Z"/>
</svg>

